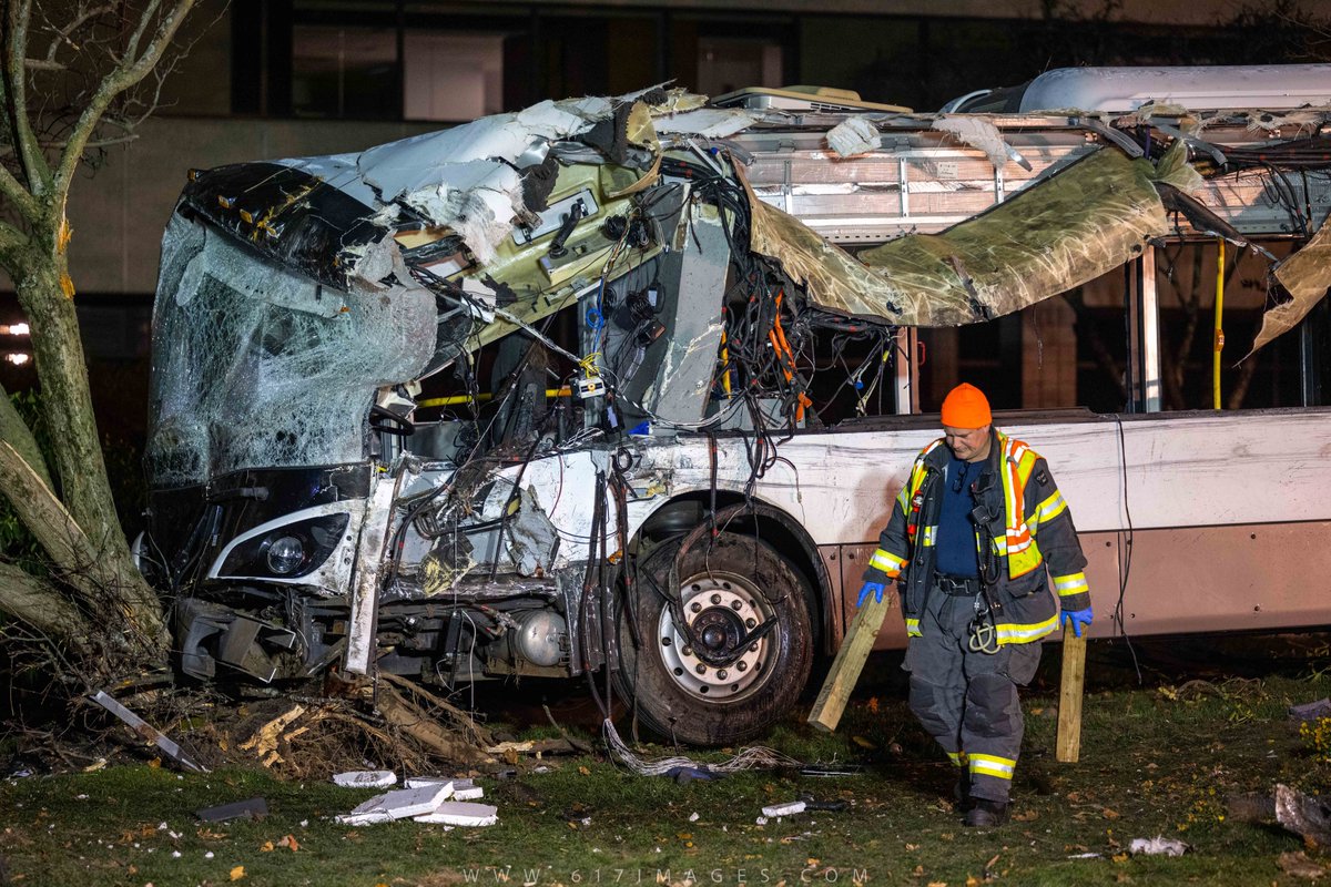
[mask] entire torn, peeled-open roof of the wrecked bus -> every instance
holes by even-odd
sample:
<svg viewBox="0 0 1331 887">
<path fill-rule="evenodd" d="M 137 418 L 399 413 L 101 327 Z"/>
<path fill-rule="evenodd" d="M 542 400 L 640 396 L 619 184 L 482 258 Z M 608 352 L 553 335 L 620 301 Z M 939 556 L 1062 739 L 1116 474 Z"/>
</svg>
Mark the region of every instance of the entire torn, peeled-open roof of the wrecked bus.
<svg viewBox="0 0 1331 887">
<path fill-rule="evenodd" d="M 455 351 L 534 323 L 668 251 L 660 230 L 628 255 L 612 219 L 627 217 L 647 189 L 691 184 L 697 173 L 662 172 L 663 162 L 687 161 L 744 186 L 748 247 L 803 286 L 811 307 L 884 324 L 953 326 L 1105 274 L 1177 230 L 1181 217 L 1197 233 L 1239 243 L 1244 233 L 1268 230 L 1270 210 L 1247 191 L 1234 199 L 1251 185 L 1203 178 L 1189 152 L 1252 169 L 1264 162 L 1252 153 L 1254 126 L 1302 132 L 1327 117 L 1326 109 L 1202 117 L 1163 105 L 1118 118 L 1069 114 L 800 114 L 708 106 L 701 96 L 652 89 L 544 101 L 359 154 L 220 168 L 193 174 L 182 199 L 321 283 L 374 290 L 414 275 L 437 295 L 451 293 L 453 310 L 470 318 L 450 340 Z M 1130 157 L 1142 153 L 1130 133 L 1150 133 L 1155 114 L 1157 148 L 1173 149 L 1158 164 Z M 1244 128 L 1246 144 L 1218 148 L 1197 136 L 1226 125 Z M 817 148 L 803 152 L 809 133 Z M 801 153 L 817 181 L 793 177 Z M 767 172 L 779 169 L 780 182 Z M 800 211 L 801 199 L 815 211 Z M 839 238 L 824 213 L 869 234 Z M 837 239 L 878 246 L 852 255 Z"/>
</svg>

